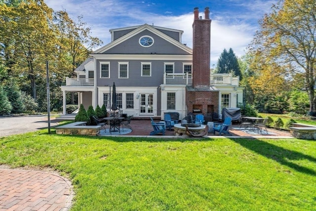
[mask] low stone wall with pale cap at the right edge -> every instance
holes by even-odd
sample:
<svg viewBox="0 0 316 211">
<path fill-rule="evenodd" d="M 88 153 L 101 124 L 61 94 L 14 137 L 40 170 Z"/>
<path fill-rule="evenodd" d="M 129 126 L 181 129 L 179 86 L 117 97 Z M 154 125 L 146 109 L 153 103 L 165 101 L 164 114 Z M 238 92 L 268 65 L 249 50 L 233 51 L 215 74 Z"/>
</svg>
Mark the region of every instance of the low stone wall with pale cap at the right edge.
<svg viewBox="0 0 316 211">
<path fill-rule="evenodd" d="M 291 135 L 295 138 L 316 140 L 316 126 L 293 123 L 289 128 Z"/>
</svg>

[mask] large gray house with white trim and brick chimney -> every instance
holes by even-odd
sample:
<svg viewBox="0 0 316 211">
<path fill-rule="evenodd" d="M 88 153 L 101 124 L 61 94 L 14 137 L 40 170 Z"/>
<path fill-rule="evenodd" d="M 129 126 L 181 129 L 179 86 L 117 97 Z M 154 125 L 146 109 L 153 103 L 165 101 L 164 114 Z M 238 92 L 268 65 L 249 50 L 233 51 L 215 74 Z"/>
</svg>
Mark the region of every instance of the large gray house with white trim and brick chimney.
<svg viewBox="0 0 316 211">
<path fill-rule="evenodd" d="M 63 91 L 78 92 L 87 109 L 105 104 L 111 109 L 116 84 L 117 105 L 134 117 L 160 117 L 165 112 L 220 114 L 243 100 L 238 77 L 210 71 L 209 9 L 205 18 L 194 10 L 193 49 L 182 43 L 183 31 L 144 24 L 110 30 L 112 41 L 90 54 L 67 78 Z"/>
</svg>

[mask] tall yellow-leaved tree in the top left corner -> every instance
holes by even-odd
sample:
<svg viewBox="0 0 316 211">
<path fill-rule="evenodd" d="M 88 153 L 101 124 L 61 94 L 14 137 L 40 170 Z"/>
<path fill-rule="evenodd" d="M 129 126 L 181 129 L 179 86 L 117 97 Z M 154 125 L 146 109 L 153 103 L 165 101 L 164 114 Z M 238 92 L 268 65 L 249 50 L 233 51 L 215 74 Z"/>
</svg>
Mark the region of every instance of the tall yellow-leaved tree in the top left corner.
<svg viewBox="0 0 316 211">
<path fill-rule="evenodd" d="M 55 48 L 50 27 L 52 9 L 43 0 L 25 0 L 18 6 L 0 4 L 0 43 L 10 71 L 30 80 L 36 99 L 37 78 L 45 74 L 45 59 Z"/>
</svg>

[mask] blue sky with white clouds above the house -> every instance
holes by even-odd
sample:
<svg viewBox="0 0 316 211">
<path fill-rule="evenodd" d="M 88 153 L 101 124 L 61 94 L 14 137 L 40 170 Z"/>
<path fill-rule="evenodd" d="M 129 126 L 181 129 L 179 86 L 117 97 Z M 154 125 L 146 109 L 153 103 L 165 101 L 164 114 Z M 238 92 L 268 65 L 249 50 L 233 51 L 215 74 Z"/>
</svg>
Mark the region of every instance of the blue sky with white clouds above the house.
<svg viewBox="0 0 316 211">
<path fill-rule="evenodd" d="M 209 7 L 211 23 L 211 67 L 224 48 L 231 47 L 240 57 L 259 28 L 258 20 L 269 13 L 277 0 L 45 0 L 54 9 L 66 10 L 70 17 L 83 21 L 92 36 L 111 42 L 109 30 L 142 24 L 184 31 L 182 42 L 192 47 L 193 10 Z"/>
</svg>

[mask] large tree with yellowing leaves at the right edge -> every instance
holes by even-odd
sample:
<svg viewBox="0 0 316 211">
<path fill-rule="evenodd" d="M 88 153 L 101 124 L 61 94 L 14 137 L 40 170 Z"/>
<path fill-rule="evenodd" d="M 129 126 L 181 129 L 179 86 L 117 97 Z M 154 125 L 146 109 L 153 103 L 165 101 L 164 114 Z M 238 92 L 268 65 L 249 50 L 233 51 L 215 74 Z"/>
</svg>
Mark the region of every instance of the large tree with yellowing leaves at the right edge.
<svg viewBox="0 0 316 211">
<path fill-rule="evenodd" d="M 272 6 L 272 13 L 261 20 L 249 50 L 265 60 L 274 76 L 287 81 L 302 79 L 310 114 L 316 114 L 315 0 L 279 0 Z"/>
</svg>

